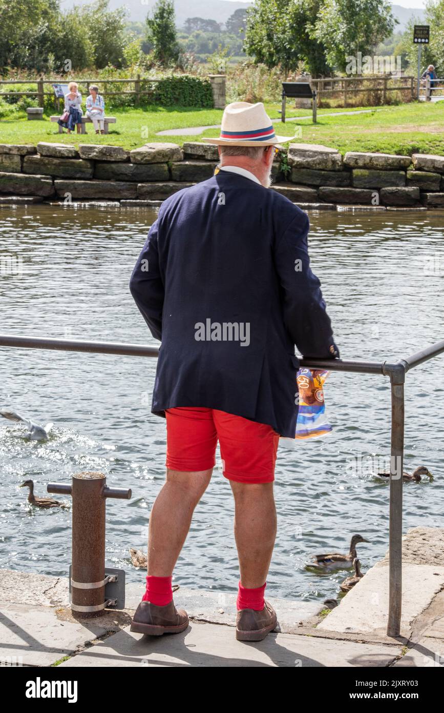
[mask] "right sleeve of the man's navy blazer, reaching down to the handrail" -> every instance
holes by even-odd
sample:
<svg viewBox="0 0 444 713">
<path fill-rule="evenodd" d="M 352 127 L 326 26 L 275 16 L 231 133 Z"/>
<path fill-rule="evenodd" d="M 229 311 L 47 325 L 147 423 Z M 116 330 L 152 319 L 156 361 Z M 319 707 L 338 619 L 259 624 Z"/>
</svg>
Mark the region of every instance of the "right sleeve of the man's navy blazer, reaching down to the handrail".
<svg viewBox="0 0 444 713">
<path fill-rule="evenodd" d="M 307 214 L 298 214 L 275 246 L 275 266 L 280 279 L 285 327 L 302 356 L 313 359 L 339 357 L 332 324 L 310 268 Z"/>
</svg>

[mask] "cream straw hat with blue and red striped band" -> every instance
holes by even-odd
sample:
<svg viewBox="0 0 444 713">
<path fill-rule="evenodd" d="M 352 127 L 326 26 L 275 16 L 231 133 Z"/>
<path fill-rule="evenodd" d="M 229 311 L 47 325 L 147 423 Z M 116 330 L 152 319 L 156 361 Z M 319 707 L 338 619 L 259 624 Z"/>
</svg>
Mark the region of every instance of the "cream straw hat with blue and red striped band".
<svg viewBox="0 0 444 713">
<path fill-rule="evenodd" d="M 226 106 L 219 138 L 206 138 L 220 146 L 270 146 L 291 141 L 291 136 L 276 136 L 271 119 L 261 101 L 249 104 L 235 101 Z"/>
</svg>

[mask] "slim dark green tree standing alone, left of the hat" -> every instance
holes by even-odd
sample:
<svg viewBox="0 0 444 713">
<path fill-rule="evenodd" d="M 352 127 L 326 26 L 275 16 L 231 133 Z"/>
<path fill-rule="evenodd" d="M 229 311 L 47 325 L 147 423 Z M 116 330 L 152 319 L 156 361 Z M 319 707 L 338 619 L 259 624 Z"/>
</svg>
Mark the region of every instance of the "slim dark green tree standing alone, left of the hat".
<svg viewBox="0 0 444 713">
<path fill-rule="evenodd" d="M 179 56 L 174 24 L 173 0 L 157 0 L 152 17 L 147 16 L 147 41 L 152 43 L 154 60 L 168 66 Z"/>
</svg>

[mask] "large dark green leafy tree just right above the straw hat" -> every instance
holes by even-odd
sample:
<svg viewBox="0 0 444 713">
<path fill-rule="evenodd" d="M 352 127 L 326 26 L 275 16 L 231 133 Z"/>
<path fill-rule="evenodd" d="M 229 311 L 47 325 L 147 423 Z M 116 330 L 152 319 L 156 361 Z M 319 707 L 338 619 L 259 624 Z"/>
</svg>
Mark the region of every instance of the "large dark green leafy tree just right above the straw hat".
<svg viewBox="0 0 444 713">
<path fill-rule="evenodd" d="M 321 6 L 322 0 L 256 0 L 247 10 L 244 51 L 285 73 L 305 61 L 312 76 L 329 74 L 324 42 L 312 36 Z"/>
</svg>

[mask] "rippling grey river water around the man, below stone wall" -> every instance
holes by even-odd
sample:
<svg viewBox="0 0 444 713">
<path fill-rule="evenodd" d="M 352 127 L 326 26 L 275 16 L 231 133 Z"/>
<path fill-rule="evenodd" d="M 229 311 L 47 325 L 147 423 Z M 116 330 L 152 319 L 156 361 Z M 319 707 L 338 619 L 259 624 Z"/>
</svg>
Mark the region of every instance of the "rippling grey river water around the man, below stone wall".
<svg viewBox="0 0 444 713">
<path fill-rule="evenodd" d="M 311 215 L 312 267 L 344 359 L 408 356 L 443 339 L 443 212 L 321 212 Z M 128 291 L 129 276 L 155 212 L 36 205 L 0 210 L 1 332 L 154 343 Z M 10 260 L 9 260 L 10 258 Z M 406 382 L 405 468 L 428 466 L 435 481 L 404 487 L 403 530 L 443 526 L 444 357 Z M 150 414 L 155 359 L 0 348 L 0 407 L 53 421 L 48 443 L 0 423 L 0 566 L 67 575 L 70 511 L 26 503 L 49 481 L 83 470 L 132 488 L 107 501 L 107 565 L 144 586 L 128 548 L 146 551 L 147 523 L 164 481 L 164 419 Z M 307 570 L 310 555 L 348 551 L 352 534 L 366 571 L 386 552 L 388 484 L 375 477 L 390 448 L 390 391 L 384 376 L 330 374 L 332 434 L 280 448 L 275 498 L 278 534 L 268 594 L 334 596 L 347 573 Z M 199 503 L 174 583 L 236 591 L 231 488 L 221 461 Z M 63 496 L 58 496 L 62 498 Z M 70 498 L 67 498 L 70 501 Z"/>
</svg>

